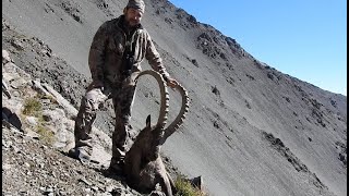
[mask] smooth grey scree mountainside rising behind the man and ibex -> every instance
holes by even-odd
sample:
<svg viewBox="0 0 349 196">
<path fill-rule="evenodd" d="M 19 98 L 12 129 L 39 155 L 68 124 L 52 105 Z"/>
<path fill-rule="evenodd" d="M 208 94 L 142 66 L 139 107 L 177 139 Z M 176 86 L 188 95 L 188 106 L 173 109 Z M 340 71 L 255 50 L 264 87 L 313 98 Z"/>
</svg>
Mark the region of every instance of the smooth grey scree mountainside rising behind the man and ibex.
<svg viewBox="0 0 349 196">
<path fill-rule="evenodd" d="M 76 109 L 91 82 L 92 37 L 125 4 L 125 0 L 4 0 L 2 49 Z M 202 175 L 210 195 L 347 194 L 347 97 L 260 62 L 237 40 L 167 0 L 146 1 L 143 25 L 167 70 L 191 98 L 183 126 L 163 147 L 182 173 Z M 149 69 L 146 62 L 143 69 Z M 139 85 L 132 113 L 136 128 L 144 126 L 149 113 L 157 119 L 159 94 L 154 86 L 151 79 Z M 176 91 L 170 96 L 171 119 L 180 98 Z M 113 128 L 109 106 L 95 124 L 106 135 Z M 108 152 L 106 145 L 100 146 Z M 13 167 L 7 168 L 3 176 Z M 79 181 L 85 174 L 74 177 Z"/>
</svg>

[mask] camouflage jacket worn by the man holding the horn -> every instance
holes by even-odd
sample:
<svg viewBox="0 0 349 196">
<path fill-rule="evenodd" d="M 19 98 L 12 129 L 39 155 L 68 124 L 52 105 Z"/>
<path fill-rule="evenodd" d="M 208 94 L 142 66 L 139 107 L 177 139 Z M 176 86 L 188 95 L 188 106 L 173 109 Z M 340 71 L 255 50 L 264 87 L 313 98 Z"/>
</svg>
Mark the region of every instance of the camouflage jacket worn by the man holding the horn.
<svg viewBox="0 0 349 196">
<path fill-rule="evenodd" d="M 124 71 L 123 53 L 125 51 L 127 33 L 122 28 L 123 15 L 105 22 L 95 34 L 88 54 L 88 65 L 94 82 L 108 81 L 122 83 Z M 160 54 L 156 50 L 147 30 L 139 25 L 132 35 L 132 47 L 134 47 L 134 63 L 131 70 L 131 82 L 142 71 L 141 62 L 147 59 L 151 66 L 158 71 L 165 79 L 169 77 L 163 65 Z M 130 77 L 129 77 L 130 78 Z"/>
</svg>

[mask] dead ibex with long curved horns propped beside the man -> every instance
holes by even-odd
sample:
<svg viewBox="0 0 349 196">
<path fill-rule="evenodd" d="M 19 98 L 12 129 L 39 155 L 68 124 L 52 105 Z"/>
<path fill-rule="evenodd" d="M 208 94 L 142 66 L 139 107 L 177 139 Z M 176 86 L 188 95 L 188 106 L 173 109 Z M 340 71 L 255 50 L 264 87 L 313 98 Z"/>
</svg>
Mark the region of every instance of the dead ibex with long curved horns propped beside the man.
<svg viewBox="0 0 349 196">
<path fill-rule="evenodd" d="M 156 125 L 151 125 L 151 115 L 147 117 L 146 127 L 140 132 L 125 155 L 124 173 L 129 185 L 140 192 L 154 191 L 158 184 L 161 187 L 161 192 L 167 196 L 171 196 L 174 191 L 174 184 L 165 169 L 159 152 L 166 139 L 183 123 L 189 108 L 189 98 L 186 90 L 181 85 L 178 85 L 176 89 L 182 96 L 181 110 L 174 121 L 165 128 L 169 111 L 169 94 L 165 81 L 160 74 L 152 70 L 141 72 L 139 77 L 144 74 L 154 76 L 159 84 L 161 96 L 160 113 Z"/>
</svg>

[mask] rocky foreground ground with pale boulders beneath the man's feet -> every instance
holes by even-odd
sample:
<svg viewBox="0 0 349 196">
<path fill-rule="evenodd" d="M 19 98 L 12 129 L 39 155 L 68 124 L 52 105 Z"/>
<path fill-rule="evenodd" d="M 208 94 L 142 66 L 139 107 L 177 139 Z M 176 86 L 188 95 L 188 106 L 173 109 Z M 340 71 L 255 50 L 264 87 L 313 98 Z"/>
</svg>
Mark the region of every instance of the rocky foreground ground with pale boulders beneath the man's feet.
<svg viewBox="0 0 349 196">
<path fill-rule="evenodd" d="M 83 166 L 67 156 L 74 146 L 72 119 L 77 110 L 16 66 L 5 50 L 2 54 L 2 76 L 10 84 L 4 83 L 9 94 L 2 95 L 2 195 L 142 195 L 123 175 L 105 172 L 111 139 L 98 128 L 93 130 L 93 163 Z M 164 160 L 178 176 L 169 159 Z"/>
</svg>

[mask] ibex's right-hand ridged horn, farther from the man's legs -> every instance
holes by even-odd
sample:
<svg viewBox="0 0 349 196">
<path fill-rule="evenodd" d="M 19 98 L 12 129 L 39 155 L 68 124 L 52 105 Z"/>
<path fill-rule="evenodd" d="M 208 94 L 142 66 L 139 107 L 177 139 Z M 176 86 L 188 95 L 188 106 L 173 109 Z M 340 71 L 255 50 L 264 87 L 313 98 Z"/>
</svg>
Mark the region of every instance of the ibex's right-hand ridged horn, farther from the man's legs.
<svg viewBox="0 0 349 196">
<path fill-rule="evenodd" d="M 185 90 L 185 88 L 181 85 L 176 86 L 176 89 L 180 93 L 180 95 L 182 96 L 182 106 L 181 106 L 181 110 L 178 113 L 177 118 L 174 119 L 174 121 L 165 130 L 165 134 L 163 139 L 160 140 L 160 145 L 163 145 L 166 139 L 172 135 L 179 127 L 180 125 L 182 125 L 184 119 L 185 119 L 185 114 L 189 111 L 189 97 L 188 97 L 188 91 Z"/>
</svg>

